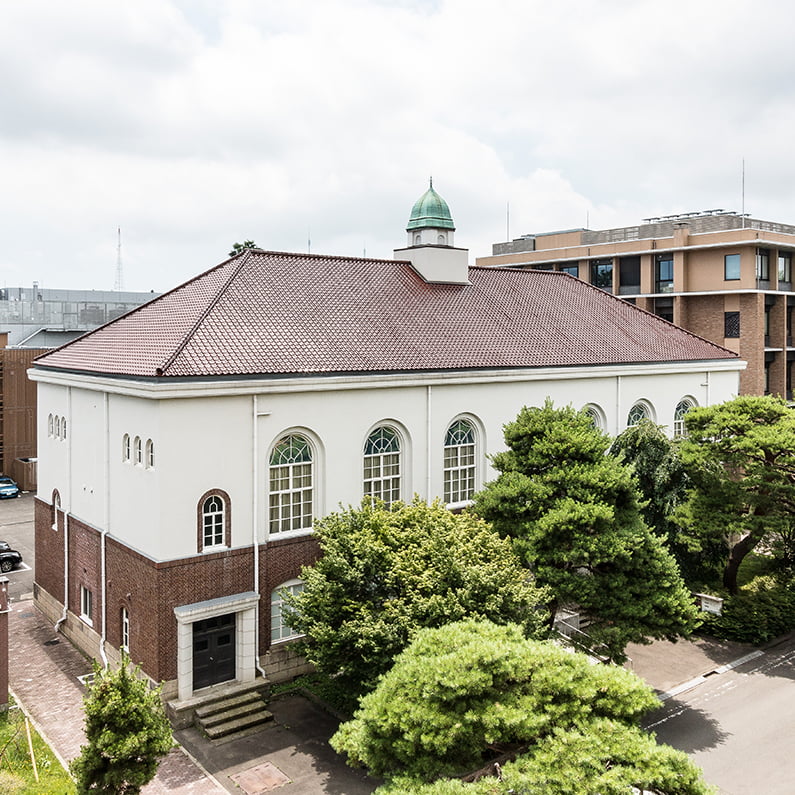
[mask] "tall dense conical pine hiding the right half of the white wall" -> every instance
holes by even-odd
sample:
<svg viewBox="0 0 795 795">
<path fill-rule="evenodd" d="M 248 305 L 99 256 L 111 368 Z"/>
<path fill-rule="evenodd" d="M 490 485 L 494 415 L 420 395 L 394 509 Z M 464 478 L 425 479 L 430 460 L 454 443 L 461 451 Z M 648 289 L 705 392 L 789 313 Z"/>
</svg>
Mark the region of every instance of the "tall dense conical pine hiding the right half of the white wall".
<svg viewBox="0 0 795 795">
<path fill-rule="evenodd" d="M 692 631 L 696 609 L 676 561 L 643 521 L 631 469 L 607 454 L 609 437 L 585 412 L 524 408 L 505 426 L 497 480 L 475 511 L 514 546 L 553 594 L 549 620 L 574 603 L 607 656 L 630 642 Z"/>
</svg>

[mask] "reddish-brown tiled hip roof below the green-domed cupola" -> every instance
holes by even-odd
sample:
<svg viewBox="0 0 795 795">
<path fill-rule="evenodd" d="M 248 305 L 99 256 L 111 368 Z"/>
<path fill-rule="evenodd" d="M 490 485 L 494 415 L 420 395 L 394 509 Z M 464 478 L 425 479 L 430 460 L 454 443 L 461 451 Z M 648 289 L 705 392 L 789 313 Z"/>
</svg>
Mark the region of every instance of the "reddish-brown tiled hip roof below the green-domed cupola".
<svg viewBox="0 0 795 795">
<path fill-rule="evenodd" d="M 36 360 L 129 376 L 555 367 L 735 358 L 565 273 L 250 251 Z"/>
</svg>

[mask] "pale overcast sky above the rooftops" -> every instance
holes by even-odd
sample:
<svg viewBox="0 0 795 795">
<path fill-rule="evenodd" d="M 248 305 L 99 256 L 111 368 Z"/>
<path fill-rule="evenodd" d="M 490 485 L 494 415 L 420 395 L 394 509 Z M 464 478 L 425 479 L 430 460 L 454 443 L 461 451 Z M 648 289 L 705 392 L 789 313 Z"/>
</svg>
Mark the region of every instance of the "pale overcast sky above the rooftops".
<svg viewBox="0 0 795 795">
<path fill-rule="evenodd" d="M 0 0 L 0 282 L 163 291 L 392 257 L 433 175 L 471 261 L 712 208 L 795 223 L 787 0 Z M 510 223 L 507 208 L 510 206 Z"/>
</svg>

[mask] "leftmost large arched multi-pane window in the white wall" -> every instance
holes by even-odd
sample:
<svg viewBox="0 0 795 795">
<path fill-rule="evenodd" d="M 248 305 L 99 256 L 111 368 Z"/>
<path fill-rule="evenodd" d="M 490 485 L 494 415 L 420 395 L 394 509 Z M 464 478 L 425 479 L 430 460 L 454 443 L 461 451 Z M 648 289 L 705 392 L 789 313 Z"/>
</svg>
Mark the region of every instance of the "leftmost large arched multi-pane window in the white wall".
<svg viewBox="0 0 795 795">
<path fill-rule="evenodd" d="M 269 472 L 271 533 L 312 529 L 312 449 L 298 434 L 279 439 Z"/>
</svg>

